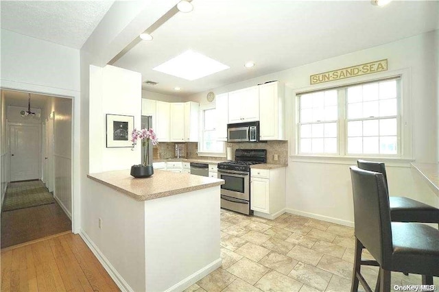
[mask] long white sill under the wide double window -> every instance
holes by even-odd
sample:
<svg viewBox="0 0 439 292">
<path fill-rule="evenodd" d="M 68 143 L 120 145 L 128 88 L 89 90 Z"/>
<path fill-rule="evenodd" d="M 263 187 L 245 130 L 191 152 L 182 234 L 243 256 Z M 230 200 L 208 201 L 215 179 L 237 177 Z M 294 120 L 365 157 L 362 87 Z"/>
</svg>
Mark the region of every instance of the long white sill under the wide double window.
<svg viewBox="0 0 439 292">
<path fill-rule="evenodd" d="M 373 160 L 385 162 L 386 165 L 395 167 L 410 167 L 410 163 L 415 160 L 412 158 L 389 158 L 389 157 L 358 157 L 358 156 L 312 156 L 312 155 L 290 155 L 289 161 L 292 162 L 311 162 L 329 163 L 335 165 L 357 165 L 357 160 Z"/>
</svg>

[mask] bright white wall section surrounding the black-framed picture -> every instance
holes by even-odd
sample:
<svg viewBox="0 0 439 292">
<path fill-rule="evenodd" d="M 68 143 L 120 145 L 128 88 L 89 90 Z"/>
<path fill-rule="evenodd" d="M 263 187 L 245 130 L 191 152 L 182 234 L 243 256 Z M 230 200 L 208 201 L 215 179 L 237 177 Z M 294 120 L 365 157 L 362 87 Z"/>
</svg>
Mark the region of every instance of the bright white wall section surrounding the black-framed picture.
<svg viewBox="0 0 439 292">
<path fill-rule="evenodd" d="M 140 163 L 140 147 L 107 148 L 106 114 L 134 116 L 141 126 L 141 73 L 115 66 L 90 69 L 90 173 L 130 169 Z"/>
</svg>

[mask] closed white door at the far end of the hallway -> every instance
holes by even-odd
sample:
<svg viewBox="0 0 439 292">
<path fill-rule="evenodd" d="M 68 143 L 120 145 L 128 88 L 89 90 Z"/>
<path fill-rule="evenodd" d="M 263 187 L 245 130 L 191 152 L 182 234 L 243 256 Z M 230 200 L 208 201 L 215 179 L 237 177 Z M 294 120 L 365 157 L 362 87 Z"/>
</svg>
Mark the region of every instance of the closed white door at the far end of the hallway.
<svg viewBox="0 0 439 292">
<path fill-rule="evenodd" d="M 40 125 L 10 125 L 11 181 L 40 178 Z"/>
</svg>

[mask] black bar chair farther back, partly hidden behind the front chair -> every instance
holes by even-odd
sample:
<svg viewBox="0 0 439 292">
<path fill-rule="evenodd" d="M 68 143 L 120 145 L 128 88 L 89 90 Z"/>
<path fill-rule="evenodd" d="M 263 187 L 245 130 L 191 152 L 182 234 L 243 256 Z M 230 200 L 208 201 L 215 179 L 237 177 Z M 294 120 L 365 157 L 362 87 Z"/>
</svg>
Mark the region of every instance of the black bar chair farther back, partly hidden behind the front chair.
<svg viewBox="0 0 439 292">
<path fill-rule="evenodd" d="M 360 169 L 383 173 L 385 186 L 388 188 L 387 175 L 383 162 L 357 160 Z M 408 197 L 389 197 L 390 219 L 394 222 L 438 223 L 439 209 L 418 202 Z"/>
</svg>

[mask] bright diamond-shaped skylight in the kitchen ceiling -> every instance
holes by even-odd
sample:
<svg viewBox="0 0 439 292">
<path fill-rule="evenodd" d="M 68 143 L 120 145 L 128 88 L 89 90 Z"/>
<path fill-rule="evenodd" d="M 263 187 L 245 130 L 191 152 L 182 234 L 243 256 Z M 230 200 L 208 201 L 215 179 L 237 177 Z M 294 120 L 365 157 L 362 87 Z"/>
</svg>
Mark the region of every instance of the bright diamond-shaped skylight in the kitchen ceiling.
<svg viewBox="0 0 439 292">
<path fill-rule="evenodd" d="M 201 53 L 189 50 L 156 66 L 154 70 L 177 76 L 185 80 L 197 80 L 201 77 L 229 68 L 229 66 L 206 57 Z"/>
</svg>

